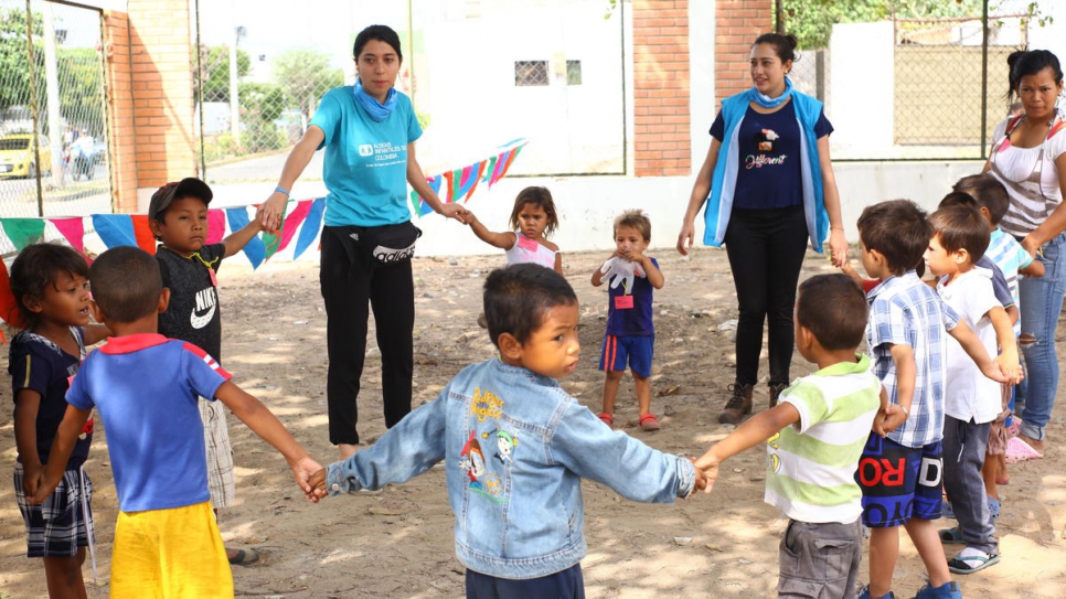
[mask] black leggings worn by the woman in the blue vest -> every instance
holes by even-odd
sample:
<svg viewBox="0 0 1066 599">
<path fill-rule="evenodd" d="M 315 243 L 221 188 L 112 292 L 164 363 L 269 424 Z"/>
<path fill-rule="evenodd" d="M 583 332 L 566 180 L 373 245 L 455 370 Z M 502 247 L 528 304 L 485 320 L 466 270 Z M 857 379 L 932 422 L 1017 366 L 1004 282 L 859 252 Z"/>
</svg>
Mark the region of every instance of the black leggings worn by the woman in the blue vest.
<svg viewBox="0 0 1066 599">
<path fill-rule="evenodd" d="M 770 384 L 789 382 L 792 309 L 809 236 L 803 206 L 734 210 L 725 248 L 736 286 L 736 382 L 754 385 L 763 353 L 763 323 L 769 317 Z"/>
</svg>

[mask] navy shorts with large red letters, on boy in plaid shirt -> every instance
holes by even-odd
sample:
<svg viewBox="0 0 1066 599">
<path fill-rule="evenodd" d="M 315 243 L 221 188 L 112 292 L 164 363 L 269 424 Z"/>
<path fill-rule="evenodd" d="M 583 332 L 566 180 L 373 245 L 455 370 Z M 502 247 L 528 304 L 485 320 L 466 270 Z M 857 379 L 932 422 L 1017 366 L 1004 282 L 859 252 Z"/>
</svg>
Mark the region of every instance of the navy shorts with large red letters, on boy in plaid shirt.
<svg viewBox="0 0 1066 599">
<path fill-rule="evenodd" d="M 859 459 L 855 480 L 863 490 L 863 524 L 871 528 L 900 526 L 912 517 L 937 520 L 944 482 L 940 441 L 904 447 L 871 432 Z"/>
</svg>

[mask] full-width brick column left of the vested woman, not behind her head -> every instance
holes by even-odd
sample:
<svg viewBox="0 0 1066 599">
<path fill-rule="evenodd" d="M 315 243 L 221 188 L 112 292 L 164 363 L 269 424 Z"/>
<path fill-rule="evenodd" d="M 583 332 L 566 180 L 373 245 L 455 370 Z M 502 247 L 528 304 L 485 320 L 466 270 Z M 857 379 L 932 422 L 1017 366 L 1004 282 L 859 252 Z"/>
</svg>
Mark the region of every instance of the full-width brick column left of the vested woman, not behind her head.
<svg viewBox="0 0 1066 599">
<path fill-rule="evenodd" d="M 633 0 L 632 11 L 636 175 L 691 174 L 689 1 Z"/>
</svg>

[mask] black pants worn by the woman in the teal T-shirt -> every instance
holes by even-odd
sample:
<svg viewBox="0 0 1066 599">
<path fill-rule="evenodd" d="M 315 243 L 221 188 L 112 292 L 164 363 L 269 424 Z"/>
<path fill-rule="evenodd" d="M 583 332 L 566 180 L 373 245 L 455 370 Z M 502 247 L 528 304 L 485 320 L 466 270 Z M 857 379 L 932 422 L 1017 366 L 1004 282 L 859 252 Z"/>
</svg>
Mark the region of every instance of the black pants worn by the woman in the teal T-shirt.
<svg viewBox="0 0 1066 599">
<path fill-rule="evenodd" d="M 374 310 L 381 349 L 382 400 L 385 426 L 392 428 L 411 413 L 414 372 L 415 287 L 411 260 L 375 266 L 369 254 L 353 256 L 341 234 L 322 231 L 319 280 L 326 300 L 326 344 L 329 354 L 326 396 L 330 442 L 359 443 L 355 398 L 366 355 L 367 302 Z"/>
</svg>

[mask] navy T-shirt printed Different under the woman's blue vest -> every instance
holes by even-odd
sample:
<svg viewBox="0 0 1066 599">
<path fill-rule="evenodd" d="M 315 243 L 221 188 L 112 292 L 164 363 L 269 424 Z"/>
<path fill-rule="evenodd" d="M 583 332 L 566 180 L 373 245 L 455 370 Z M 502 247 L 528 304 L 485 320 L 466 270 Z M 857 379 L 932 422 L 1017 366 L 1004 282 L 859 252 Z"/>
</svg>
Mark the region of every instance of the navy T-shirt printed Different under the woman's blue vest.
<svg viewBox="0 0 1066 599">
<path fill-rule="evenodd" d="M 749 106 L 740 121 L 736 148 L 740 169 L 736 178 L 733 207 L 739 210 L 783 208 L 803 205 L 800 174 L 800 135 L 796 108 L 789 101 L 776 113 L 764 115 Z M 822 111 L 814 125 L 818 139 L 833 132 Z M 718 113 L 711 135 L 725 138 L 725 121 Z"/>
</svg>

